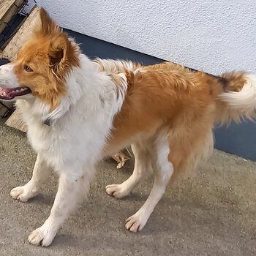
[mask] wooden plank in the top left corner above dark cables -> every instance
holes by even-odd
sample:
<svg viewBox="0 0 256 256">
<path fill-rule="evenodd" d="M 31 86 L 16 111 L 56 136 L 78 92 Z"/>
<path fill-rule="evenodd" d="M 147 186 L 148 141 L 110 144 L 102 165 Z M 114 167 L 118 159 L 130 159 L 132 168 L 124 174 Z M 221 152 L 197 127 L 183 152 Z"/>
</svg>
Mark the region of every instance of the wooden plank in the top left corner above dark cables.
<svg viewBox="0 0 256 256">
<path fill-rule="evenodd" d="M 19 8 L 25 3 L 24 0 L 4 0 L 4 3 L 6 3 L 6 1 L 10 2 L 10 4 L 1 5 L 2 0 L 0 0 L 0 33 L 4 31 L 4 29 L 7 27 L 7 23 L 18 12 Z"/>
</svg>

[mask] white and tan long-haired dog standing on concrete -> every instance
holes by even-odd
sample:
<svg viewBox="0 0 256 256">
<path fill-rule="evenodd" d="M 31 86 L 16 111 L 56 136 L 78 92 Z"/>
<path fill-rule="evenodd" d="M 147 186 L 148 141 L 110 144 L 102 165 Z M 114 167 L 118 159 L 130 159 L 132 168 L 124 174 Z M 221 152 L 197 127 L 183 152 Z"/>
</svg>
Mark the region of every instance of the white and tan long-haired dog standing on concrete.
<svg viewBox="0 0 256 256">
<path fill-rule="evenodd" d="M 135 169 L 106 187 L 121 198 L 150 173 L 154 186 L 126 221 L 142 230 L 170 180 L 194 169 L 213 149 L 215 123 L 253 118 L 256 78 L 246 73 L 208 75 L 171 63 L 142 67 L 129 61 L 89 60 L 45 10 L 42 26 L 10 64 L 0 67 L 0 99 L 16 100 L 37 152 L 31 180 L 12 189 L 26 202 L 50 171 L 59 189 L 50 216 L 29 236 L 48 246 L 78 200 L 86 196 L 95 164 L 132 144 Z"/>
</svg>

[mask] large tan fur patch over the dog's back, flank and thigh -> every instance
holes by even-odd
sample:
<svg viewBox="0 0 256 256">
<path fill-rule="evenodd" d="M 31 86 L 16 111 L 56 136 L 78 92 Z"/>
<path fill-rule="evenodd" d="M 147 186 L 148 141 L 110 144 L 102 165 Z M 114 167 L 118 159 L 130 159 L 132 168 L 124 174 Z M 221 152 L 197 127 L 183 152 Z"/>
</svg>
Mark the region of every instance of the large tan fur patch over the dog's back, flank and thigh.
<svg viewBox="0 0 256 256">
<path fill-rule="evenodd" d="M 165 131 L 173 177 L 178 177 L 211 153 L 214 100 L 222 86 L 202 72 L 171 66 L 157 64 L 134 73 L 106 151 L 127 146 L 138 134 L 154 140 Z"/>
</svg>

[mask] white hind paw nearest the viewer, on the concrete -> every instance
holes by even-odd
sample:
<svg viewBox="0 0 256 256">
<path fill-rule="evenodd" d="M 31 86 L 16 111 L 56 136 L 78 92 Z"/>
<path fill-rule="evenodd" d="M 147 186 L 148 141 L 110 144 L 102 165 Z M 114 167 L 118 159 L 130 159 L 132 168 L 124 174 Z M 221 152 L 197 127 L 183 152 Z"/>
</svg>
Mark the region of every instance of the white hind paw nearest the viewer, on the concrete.
<svg viewBox="0 0 256 256">
<path fill-rule="evenodd" d="M 133 233 L 136 233 L 145 227 L 147 221 L 148 216 L 143 214 L 141 211 L 137 211 L 136 214 L 133 214 L 125 221 L 125 228 Z"/>
</svg>

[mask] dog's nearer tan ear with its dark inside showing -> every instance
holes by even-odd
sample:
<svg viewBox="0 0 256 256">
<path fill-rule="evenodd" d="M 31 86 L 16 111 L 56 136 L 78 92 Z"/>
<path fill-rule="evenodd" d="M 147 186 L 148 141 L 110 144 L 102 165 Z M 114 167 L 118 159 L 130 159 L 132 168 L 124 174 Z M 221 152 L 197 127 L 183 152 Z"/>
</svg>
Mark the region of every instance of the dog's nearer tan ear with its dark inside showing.
<svg viewBox="0 0 256 256">
<path fill-rule="evenodd" d="M 50 68 L 56 78 L 62 80 L 71 67 L 80 65 L 78 55 L 78 46 L 72 44 L 66 34 L 60 33 L 51 39 L 48 56 Z"/>
</svg>

